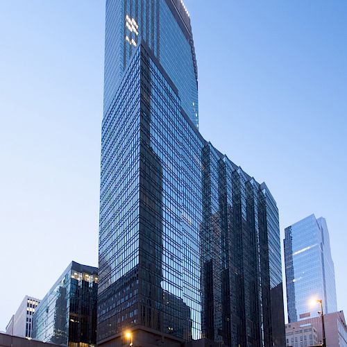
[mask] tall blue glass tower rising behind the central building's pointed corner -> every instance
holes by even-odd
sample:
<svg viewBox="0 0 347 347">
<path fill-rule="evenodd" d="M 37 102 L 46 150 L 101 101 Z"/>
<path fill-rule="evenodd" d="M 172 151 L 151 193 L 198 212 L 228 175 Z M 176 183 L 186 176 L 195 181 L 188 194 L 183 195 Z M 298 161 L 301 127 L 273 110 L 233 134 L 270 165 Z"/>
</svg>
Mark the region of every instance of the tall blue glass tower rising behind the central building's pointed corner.
<svg viewBox="0 0 347 347">
<path fill-rule="evenodd" d="M 106 1 L 104 115 L 141 40 L 176 85 L 183 110 L 198 127 L 198 71 L 192 26 L 180 0 Z"/>
</svg>

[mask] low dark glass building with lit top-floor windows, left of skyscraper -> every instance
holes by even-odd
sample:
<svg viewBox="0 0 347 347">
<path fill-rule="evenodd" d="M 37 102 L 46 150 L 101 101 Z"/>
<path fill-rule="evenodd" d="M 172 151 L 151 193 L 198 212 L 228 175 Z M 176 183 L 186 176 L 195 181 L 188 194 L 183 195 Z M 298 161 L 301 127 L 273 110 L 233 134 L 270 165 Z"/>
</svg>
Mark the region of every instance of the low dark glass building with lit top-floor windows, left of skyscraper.
<svg viewBox="0 0 347 347">
<path fill-rule="evenodd" d="M 96 345 L 98 269 L 71 262 L 34 314 L 33 339 L 78 347 Z"/>
</svg>

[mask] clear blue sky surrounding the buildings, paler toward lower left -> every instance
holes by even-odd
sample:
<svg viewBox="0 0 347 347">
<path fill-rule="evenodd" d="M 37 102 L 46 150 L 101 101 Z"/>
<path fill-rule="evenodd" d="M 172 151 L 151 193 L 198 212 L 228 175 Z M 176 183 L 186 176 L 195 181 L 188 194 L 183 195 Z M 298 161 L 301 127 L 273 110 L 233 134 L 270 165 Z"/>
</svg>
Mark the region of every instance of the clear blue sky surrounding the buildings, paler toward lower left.
<svg viewBox="0 0 347 347">
<path fill-rule="evenodd" d="M 200 130 L 283 232 L 325 217 L 347 310 L 347 1 L 186 0 Z M 104 0 L 0 0 L 0 330 L 71 260 L 97 264 Z"/>
</svg>

